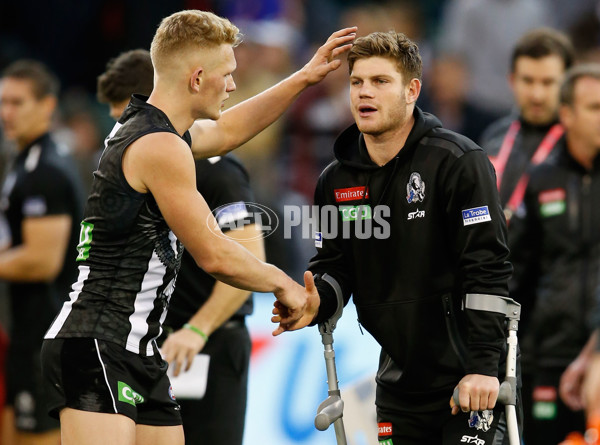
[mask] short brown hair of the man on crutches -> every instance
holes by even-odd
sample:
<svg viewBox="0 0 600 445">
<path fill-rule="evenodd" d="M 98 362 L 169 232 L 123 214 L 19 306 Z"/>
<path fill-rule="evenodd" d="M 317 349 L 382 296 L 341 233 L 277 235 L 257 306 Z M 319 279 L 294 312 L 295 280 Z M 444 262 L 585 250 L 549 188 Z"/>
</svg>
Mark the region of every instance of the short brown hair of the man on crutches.
<svg viewBox="0 0 600 445">
<path fill-rule="evenodd" d="M 421 80 L 423 62 L 419 47 L 401 32 L 373 32 L 356 39 L 348 53 L 350 74 L 357 60 L 376 56 L 394 60 L 405 83 L 415 78 Z"/>
</svg>

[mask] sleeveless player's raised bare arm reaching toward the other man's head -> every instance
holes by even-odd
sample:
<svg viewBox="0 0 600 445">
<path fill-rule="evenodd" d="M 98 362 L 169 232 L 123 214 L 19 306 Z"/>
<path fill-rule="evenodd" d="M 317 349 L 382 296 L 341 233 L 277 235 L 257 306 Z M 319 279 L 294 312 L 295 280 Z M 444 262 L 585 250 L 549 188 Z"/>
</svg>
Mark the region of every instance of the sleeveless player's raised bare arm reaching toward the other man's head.
<svg viewBox="0 0 600 445">
<path fill-rule="evenodd" d="M 190 128 L 195 158 L 223 155 L 275 122 L 298 95 L 338 69 L 338 57 L 352 47 L 356 27 L 334 32 L 303 68 L 271 88 L 225 111 L 219 120 L 199 120 Z"/>
</svg>

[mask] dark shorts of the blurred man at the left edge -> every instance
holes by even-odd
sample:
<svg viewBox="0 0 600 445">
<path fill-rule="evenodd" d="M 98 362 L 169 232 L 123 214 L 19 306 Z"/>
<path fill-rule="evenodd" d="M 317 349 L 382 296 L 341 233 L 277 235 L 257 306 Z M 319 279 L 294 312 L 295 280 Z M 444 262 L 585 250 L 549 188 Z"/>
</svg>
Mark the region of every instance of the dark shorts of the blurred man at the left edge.
<svg viewBox="0 0 600 445">
<path fill-rule="evenodd" d="M 42 381 L 40 350 L 11 348 L 6 360 L 6 404 L 14 410 L 15 427 L 24 433 L 58 429 L 58 420 L 48 416 L 48 393 Z"/>
</svg>

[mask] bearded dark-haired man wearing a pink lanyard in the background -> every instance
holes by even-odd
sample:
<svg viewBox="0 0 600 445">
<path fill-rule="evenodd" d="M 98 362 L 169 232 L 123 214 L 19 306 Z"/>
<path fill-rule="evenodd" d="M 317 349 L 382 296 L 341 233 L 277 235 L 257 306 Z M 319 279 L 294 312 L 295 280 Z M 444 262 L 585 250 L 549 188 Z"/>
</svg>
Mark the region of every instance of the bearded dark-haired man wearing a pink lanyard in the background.
<svg viewBox="0 0 600 445">
<path fill-rule="evenodd" d="M 516 109 L 492 123 L 481 139 L 496 169 L 507 220 L 523 199 L 525 173 L 542 162 L 563 135 L 558 122 L 558 90 L 573 60 L 569 38 L 550 28 L 529 31 L 513 49 L 509 81 Z"/>
</svg>

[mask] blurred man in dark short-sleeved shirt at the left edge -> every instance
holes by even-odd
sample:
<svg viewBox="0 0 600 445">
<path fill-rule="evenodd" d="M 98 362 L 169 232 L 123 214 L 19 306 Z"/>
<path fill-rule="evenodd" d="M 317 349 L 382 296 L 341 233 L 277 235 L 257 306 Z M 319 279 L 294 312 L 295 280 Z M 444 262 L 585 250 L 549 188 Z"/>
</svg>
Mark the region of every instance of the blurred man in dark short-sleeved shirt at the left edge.
<svg viewBox="0 0 600 445">
<path fill-rule="evenodd" d="M 50 131 L 58 93 L 58 79 L 40 62 L 18 60 L 3 73 L 0 122 L 17 149 L 0 192 L 0 280 L 8 283 L 11 307 L 3 443 L 60 438 L 58 422 L 45 412 L 39 356 L 77 276 L 68 258 L 79 240 L 83 196 L 68 148 Z"/>
</svg>

